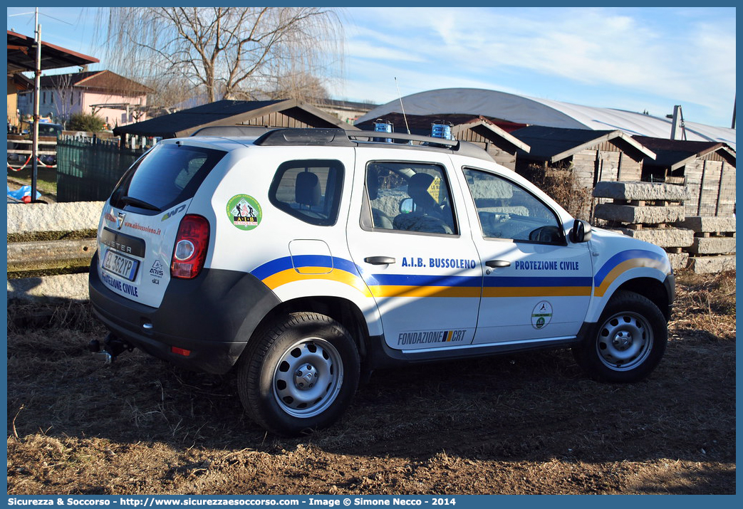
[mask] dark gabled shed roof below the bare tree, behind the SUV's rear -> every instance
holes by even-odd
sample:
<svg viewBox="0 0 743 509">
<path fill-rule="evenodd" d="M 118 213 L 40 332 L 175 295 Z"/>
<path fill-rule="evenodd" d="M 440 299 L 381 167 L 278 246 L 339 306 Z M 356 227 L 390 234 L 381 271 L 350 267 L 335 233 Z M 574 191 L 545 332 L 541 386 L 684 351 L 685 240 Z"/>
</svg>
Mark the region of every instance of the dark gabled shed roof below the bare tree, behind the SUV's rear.
<svg viewBox="0 0 743 509">
<path fill-rule="evenodd" d="M 352 128 L 335 116 L 296 99 L 275 101 L 230 101 L 196 106 L 154 119 L 114 128 L 114 136 L 136 134 L 162 138 L 186 137 L 212 125 L 241 125 L 258 116 L 282 113 L 319 128 Z M 269 126 L 276 127 L 276 126 Z"/>
</svg>

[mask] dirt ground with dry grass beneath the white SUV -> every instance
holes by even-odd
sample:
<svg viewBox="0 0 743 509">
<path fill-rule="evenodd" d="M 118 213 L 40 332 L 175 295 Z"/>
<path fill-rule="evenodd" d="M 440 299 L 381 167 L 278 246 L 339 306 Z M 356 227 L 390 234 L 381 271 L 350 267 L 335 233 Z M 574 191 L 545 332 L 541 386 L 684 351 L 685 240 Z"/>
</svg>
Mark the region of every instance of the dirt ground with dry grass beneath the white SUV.
<svg viewBox="0 0 743 509">
<path fill-rule="evenodd" d="M 106 366 L 85 305 L 8 308 L 8 493 L 736 493 L 735 275 L 678 283 L 660 367 L 567 350 L 374 372 L 342 421 L 267 436 L 232 376 Z"/>
</svg>

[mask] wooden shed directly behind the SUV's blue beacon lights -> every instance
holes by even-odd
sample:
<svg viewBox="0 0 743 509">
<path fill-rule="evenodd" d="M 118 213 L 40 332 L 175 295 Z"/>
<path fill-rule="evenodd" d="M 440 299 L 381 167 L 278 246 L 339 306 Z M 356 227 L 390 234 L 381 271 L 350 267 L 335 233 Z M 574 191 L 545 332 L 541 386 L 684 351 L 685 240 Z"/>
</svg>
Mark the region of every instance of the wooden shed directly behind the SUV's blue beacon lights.
<svg viewBox="0 0 743 509">
<path fill-rule="evenodd" d="M 430 136 L 431 126 L 434 123 L 445 122 L 452 126 L 455 139 L 481 146 L 496 162 L 512 170 L 516 169 L 516 151 L 528 153 L 531 150 L 528 144 L 511 136 L 508 132 L 522 128 L 523 124 L 499 122 L 484 116 L 441 114 L 403 117 L 399 113 L 389 113 L 381 120 L 391 122 L 395 132 L 406 132 L 406 128 L 409 128 L 411 134 L 423 136 Z M 375 122 L 376 120 L 367 120 L 356 124 L 356 127 L 363 131 L 374 131 Z"/>
</svg>

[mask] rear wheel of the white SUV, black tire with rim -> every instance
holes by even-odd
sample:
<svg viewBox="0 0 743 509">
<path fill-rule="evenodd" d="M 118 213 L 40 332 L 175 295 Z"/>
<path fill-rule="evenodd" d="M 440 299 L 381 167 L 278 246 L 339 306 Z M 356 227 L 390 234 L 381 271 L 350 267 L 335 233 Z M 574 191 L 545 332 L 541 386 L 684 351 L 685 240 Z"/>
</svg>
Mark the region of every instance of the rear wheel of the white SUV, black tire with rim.
<svg viewBox="0 0 743 509">
<path fill-rule="evenodd" d="M 251 339 L 238 364 L 238 393 L 257 424 L 297 436 L 343 414 L 359 373 L 359 353 L 345 327 L 325 315 L 299 312 Z"/>
</svg>

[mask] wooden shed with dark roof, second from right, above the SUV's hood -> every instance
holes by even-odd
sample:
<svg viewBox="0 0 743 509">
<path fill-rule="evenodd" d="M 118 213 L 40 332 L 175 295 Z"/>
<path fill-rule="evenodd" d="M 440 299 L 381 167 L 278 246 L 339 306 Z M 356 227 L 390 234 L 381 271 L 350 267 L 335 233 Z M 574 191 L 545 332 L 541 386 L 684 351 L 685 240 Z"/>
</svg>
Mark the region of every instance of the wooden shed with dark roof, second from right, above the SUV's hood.
<svg viewBox="0 0 743 509">
<path fill-rule="evenodd" d="M 516 154 L 516 171 L 538 163 L 547 166 L 571 165 L 579 182 L 593 188 L 601 181 L 639 181 L 643 160 L 655 153 L 623 131 L 550 128 L 530 125 L 511 133 L 531 146 Z"/>
</svg>

